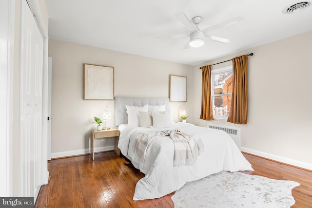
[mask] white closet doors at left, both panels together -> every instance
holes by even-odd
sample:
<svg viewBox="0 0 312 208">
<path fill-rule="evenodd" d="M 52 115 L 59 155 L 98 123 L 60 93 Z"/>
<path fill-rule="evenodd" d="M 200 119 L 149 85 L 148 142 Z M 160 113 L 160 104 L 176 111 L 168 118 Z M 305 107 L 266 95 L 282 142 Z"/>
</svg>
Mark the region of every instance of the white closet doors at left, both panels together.
<svg viewBox="0 0 312 208">
<path fill-rule="evenodd" d="M 20 58 L 20 195 L 37 196 L 42 155 L 43 38 L 25 1 L 22 1 Z"/>
</svg>

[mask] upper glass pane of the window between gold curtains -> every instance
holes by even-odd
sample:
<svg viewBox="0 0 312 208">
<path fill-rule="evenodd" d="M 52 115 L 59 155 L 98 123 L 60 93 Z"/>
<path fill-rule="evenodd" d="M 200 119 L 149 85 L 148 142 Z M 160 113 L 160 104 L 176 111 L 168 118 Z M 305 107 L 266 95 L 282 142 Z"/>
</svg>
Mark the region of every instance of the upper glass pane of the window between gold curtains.
<svg viewBox="0 0 312 208">
<path fill-rule="evenodd" d="M 215 95 L 216 94 L 232 94 L 233 86 L 233 73 L 226 72 L 221 74 L 216 74 L 215 78 Z"/>
</svg>

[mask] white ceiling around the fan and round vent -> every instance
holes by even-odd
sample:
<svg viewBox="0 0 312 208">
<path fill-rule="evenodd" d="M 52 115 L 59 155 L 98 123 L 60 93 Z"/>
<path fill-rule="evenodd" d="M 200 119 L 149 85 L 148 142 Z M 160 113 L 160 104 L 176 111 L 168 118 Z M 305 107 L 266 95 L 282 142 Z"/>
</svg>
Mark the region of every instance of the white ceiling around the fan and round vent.
<svg viewBox="0 0 312 208">
<path fill-rule="evenodd" d="M 312 6 L 282 13 L 297 2 L 301 1 L 46 0 L 49 38 L 188 65 L 312 31 Z M 189 19 L 201 16 L 200 29 L 238 16 L 245 20 L 208 33 L 230 43 L 207 39 L 200 48 L 183 49 L 187 37 L 156 38 L 188 34 L 175 16 L 179 12 Z"/>
</svg>

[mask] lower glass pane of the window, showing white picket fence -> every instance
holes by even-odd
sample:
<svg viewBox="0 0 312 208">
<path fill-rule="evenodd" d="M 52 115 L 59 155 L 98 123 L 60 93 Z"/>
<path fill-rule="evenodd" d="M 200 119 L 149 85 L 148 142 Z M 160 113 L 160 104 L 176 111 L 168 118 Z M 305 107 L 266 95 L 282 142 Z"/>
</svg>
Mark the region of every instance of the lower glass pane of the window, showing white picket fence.
<svg viewBox="0 0 312 208">
<path fill-rule="evenodd" d="M 231 107 L 231 95 L 215 96 L 214 99 L 214 115 L 228 116 Z"/>
</svg>

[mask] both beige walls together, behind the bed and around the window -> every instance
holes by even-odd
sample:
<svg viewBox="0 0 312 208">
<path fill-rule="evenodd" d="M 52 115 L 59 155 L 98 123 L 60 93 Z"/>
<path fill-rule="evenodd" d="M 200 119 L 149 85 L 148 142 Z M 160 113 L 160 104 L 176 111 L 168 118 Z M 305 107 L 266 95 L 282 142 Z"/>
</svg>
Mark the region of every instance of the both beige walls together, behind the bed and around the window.
<svg viewBox="0 0 312 208">
<path fill-rule="evenodd" d="M 312 32 L 282 39 L 221 57 L 197 66 L 182 65 L 51 39 L 52 57 L 52 146 L 51 152 L 89 149 L 89 132 L 95 128 L 93 116 L 101 116 L 106 105 L 114 113 L 114 101 L 82 100 L 82 64 L 115 68 L 115 96 L 169 96 L 169 75 L 188 77 L 188 102 L 173 103 L 174 121 L 183 105 L 188 122 L 206 126 L 199 119 L 202 65 L 213 64 L 242 54 L 249 57 L 249 116 L 247 125 L 226 121 L 214 124 L 241 128 L 242 151 L 264 154 L 282 162 L 308 168 L 312 165 L 312 112 L 301 103 L 312 103 Z M 213 68 L 229 65 L 215 65 Z M 278 84 L 276 84 L 278 83 Z M 298 89 L 297 86 L 300 86 Z M 307 100 L 308 99 L 308 100 Z M 308 101 L 308 102 L 306 102 Z M 114 119 L 108 121 L 114 126 Z M 111 146 L 112 139 L 97 141 L 96 147 Z M 285 160 L 286 159 L 286 160 Z M 303 165 L 302 165 L 303 164 Z"/>
</svg>

